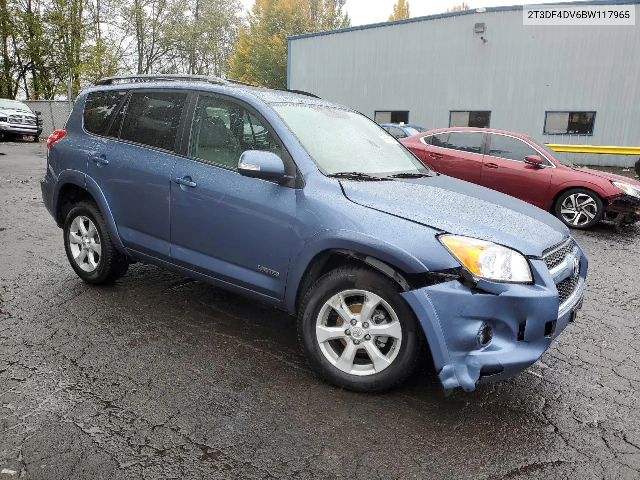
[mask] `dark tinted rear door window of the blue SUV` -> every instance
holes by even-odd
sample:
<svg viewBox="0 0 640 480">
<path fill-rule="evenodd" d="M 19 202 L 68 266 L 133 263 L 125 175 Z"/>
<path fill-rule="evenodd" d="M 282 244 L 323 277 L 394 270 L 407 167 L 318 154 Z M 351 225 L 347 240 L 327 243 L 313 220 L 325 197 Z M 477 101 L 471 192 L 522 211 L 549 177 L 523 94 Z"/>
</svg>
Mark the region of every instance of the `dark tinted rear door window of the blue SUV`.
<svg viewBox="0 0 640 480">
<path fill-rule="evenodd" d="M 172 152 L 186 99 L 186 93 L 132 93 L 120 139 Z"/>
</svg>

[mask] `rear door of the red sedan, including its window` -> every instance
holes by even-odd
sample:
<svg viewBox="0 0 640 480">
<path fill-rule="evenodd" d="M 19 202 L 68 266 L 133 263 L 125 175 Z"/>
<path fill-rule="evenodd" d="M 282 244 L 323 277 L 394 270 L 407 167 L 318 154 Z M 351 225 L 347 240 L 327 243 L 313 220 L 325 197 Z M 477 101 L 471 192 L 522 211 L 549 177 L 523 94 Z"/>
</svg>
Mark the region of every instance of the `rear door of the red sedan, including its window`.
<svg viewBox="0 0 640 480">
<path fill-rule="evenodd" d="M 431 136 L 425 161 L 436 172 L 479 184 L 483 164 L 484 132 L 444 132 Z"/>
</svg>

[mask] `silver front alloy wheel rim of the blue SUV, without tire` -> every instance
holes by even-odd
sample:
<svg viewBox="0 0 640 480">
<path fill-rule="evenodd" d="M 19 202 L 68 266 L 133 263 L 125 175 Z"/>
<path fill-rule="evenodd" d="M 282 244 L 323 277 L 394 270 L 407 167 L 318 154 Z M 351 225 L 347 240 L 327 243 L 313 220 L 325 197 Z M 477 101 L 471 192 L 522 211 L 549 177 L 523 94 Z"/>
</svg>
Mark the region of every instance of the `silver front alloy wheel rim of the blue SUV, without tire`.
<svg viewBox="0 0 640 480">
<path fill-rule="evenodd" d="M 396 312 L 372 292 L 335 294 L 317 317 L 316 340 L 324 357 L 351 375 L 369 376 L 387 369 L 396 360 L 402 339 Z"/>
</svg>

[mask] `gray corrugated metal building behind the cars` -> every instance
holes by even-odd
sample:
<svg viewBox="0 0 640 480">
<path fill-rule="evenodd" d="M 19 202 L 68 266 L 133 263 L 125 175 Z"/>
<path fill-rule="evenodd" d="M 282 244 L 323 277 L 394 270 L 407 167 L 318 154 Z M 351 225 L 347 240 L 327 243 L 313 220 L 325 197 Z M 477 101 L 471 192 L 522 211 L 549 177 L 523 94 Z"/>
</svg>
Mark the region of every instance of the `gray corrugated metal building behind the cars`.
<svg viewBox="0 0 640 480">
<path fill-rule="evenodd" d="M 640 147 L 638 24 L 523 26 L 520 5 L 288 40 L 289 88 L 316 93 L 379 123 L 405 120 L 428 129 L 466 123 L 550 144 Z M 579 164 L 637 161 L 564 155 Z"/>
</svg>

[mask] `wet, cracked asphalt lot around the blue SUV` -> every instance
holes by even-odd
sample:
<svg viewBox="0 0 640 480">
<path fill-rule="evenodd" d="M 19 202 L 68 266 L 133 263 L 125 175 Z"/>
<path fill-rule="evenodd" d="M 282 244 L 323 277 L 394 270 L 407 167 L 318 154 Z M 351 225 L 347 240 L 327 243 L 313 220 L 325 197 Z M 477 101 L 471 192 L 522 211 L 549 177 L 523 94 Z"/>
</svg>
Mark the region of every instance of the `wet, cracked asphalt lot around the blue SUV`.
<svg viewBox="0 0 640 480">
<path fill-rule="evenodd" d="M 154 266 L 81 282 L 45 155 L 0 143 L 0 480 L 640 478 L 640 227 L 576 233 L 584 310 L 518 378 L 353 394 L 282 312 Z"/>
</svg>

